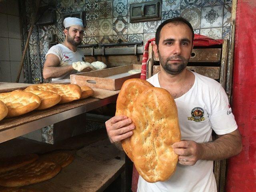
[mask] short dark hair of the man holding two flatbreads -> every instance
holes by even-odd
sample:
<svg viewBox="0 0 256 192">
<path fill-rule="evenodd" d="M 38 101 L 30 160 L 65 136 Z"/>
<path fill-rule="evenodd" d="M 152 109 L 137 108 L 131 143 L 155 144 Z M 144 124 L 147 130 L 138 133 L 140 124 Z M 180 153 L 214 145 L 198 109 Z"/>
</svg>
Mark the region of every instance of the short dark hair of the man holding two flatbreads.
<svg viewBox="0 0 256 192">
<path fill-rule="evenodd" d="M 163 28 L 166 24 L 168 24 L 168 23 L 174 23 L 174 24 L 184 23 L 184 24 L 186 24 L 186 25 L 191 29 L 191 32 L 192 32 L 192 43 L 193 43 L 193 40 L 194 40 L 194 30 L 193 30 L 193 27 L 192 27 L 192 25 L 190 24 L 190 22 L 188 22 L 188 20 L 184 19 L 183 17 L 174 17 L 174 18 L 165 20 L 164 22 L 162 22 L 162 23 L 160 24 L 160 26 L 158 26 L 158 28 L 157 28 L 157 30 L 156 30 L 156 45 L 157 45 L 157 46 L 158 46 L 159 40 L 160 40 L 160 32 L 161 32 L 162 28 Z"/>
</svg>

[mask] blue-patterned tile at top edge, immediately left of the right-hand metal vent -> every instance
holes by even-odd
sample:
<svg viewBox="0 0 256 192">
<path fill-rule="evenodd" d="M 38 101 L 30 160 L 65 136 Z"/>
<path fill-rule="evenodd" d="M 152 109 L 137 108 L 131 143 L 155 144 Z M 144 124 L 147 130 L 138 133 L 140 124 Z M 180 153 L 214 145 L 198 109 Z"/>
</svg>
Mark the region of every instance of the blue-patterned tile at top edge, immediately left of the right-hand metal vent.
<svg viewBox="0 0 256 192">
<path fill-rule="evenodd" d="M 113 16 L 122 17 L 128 14 L 127 0 L 113 0 Z"/>
</svg>

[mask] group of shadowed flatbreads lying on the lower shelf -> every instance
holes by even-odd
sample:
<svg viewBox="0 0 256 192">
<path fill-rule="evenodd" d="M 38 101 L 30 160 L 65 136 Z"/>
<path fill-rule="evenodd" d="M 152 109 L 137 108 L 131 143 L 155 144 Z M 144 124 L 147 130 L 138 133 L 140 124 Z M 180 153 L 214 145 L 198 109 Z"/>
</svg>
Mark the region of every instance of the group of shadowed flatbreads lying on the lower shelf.
<svg viewBox="0 0 256 192">
<path fill-rule="evenodd" d="M 40 157 L 36 154 L 28 154 L 0 159 L 0 186 L 8 187 L 0 188 L 0 192 L 1 190 L 26 192 L 26 190 L 13 187 L 27 186 L 49 180 L 73 160 L 74 156 L 65 152 L 55 152 Z"/>
</svg>

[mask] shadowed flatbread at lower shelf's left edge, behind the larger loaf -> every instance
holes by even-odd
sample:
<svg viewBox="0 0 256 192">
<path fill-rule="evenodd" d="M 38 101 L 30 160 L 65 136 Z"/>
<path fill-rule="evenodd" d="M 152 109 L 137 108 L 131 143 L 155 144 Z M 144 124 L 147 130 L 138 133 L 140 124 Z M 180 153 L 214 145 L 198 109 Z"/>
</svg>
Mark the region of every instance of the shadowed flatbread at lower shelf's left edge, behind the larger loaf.
<svg viewBox="0 0 256 192">
<path fill-rule="evenodd" d="M 20 168 L 36 161 L 37 159 L 37 154 L 26 154 L 11 158 L 0 158 L 0 173 Z"/>
</svg>

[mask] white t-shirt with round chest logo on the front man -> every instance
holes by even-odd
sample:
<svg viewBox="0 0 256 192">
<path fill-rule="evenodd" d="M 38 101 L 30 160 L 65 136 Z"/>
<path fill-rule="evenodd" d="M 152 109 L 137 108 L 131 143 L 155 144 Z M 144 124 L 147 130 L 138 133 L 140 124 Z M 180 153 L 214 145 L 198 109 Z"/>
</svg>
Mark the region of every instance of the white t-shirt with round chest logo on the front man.
<svg viewBox="0 0 256 192">
<path fill-rule="evenodd" d="M 215 80 L 193 72 L 195 82 L 186 94 L 175 99 L 182 140 L 198 143 L 212 140 L 212 130 L 223 135 L 237 129 L 228 97 Z M 160 87 L 158 74 L 147 80 Z M 149 183 L 141 176 L 137 192 L 216 192 L 213 161 L 198 160 L 193 166 L 177 164 L 165 182 Z"/>
</svg>

